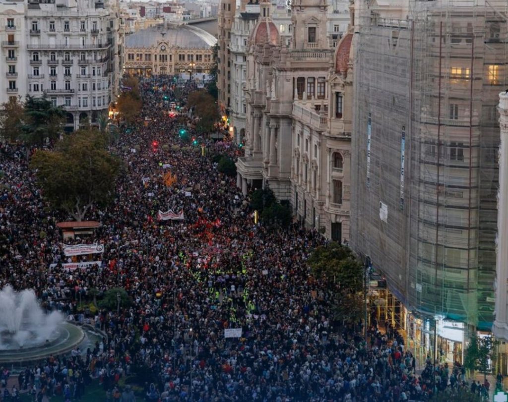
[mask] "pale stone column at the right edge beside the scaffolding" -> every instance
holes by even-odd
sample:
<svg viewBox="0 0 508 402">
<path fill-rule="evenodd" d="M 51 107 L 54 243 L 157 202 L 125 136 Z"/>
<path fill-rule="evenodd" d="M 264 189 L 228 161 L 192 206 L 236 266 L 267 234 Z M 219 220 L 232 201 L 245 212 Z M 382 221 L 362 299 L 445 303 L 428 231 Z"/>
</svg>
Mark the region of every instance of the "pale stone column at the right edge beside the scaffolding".
<svg viewBox="0 0 508 402">
<path fill-rule="evenodd" d="M 508 287 L 508 94 L 499 94 L 499 191 L 497 193 L 497 241 L 496 241 L 496 319 L 492 331 L 496 338 L 508 340 L 506 296 Z"/>
</svg>

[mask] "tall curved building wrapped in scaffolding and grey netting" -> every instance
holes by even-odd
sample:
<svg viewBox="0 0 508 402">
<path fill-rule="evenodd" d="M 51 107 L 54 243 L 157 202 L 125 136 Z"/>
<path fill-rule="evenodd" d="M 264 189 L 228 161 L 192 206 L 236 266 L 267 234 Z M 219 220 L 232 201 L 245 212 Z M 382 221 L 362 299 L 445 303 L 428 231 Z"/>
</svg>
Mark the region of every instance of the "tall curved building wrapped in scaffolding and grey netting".
<svg viewBox="0 0 508 402">
<path fill-rule="evenodd" d="M 462 343 L 493 321 L 508 2 L 399 6 L 367 2 L 355 28 L 351 244 L 412 313 L 410 344 L 436 354 L 434 331 Z"/>
</svg>

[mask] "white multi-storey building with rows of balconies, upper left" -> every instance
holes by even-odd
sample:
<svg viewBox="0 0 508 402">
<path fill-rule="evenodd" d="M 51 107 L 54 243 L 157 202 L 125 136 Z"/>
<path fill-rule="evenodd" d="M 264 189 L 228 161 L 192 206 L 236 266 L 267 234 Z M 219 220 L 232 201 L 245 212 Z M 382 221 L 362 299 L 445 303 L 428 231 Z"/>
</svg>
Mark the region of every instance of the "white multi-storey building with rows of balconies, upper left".
<svg viewBox="0 0 508 402">
<path fill-rule="evenodd" d="M 9 96 L 46 95 L 67 110 L 66 128 L 94 123 L 118 88 L 122 26 L 116 0 L 56 0 L 1 6 Z M 1 32 L 1 30 L 0 30 Z M 2 71 L 2 73 L 4 73 Z"/>
</svg>

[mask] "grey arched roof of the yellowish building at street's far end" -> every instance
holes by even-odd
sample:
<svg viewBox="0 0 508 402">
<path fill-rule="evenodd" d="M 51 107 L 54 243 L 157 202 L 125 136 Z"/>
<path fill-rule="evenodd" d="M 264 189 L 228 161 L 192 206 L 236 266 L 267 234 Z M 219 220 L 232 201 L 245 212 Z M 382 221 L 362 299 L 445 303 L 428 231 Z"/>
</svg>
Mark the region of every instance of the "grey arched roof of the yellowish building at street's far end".
<svg viewBox="0 0 508 402">
<path fill-rule="evenodd" d="M 159 42 L 167 42 L 169 47 L 207 49 L 217 40 L 196 26 L 173 23 L 155 25 L 125 37 L 126 48 L 149 48 Z"/>
</svg>

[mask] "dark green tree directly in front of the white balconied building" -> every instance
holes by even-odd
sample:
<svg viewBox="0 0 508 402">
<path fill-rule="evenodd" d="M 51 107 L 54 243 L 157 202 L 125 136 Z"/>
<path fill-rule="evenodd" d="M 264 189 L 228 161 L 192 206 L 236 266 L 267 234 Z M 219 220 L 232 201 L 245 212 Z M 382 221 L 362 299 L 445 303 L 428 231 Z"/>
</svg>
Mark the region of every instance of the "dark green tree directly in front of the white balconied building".
<svg viewBox="0 0 508 402">
<path fill-rule="evenodd" d="M 66 111 L 53 106 L 46 96 L 27 96 L 24 105 L 24 124 L 21 140 L 28 145 L 41 146 L 47 140 L 55 140 L 63 132 Z"/>
</svg>

